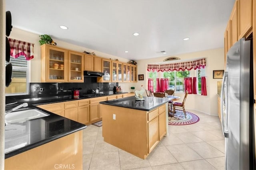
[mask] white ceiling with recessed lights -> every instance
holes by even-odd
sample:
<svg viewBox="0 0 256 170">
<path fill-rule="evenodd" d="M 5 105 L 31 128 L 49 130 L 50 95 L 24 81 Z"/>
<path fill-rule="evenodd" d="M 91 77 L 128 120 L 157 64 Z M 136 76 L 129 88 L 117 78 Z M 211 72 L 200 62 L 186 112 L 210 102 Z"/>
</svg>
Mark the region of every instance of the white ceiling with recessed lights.
<svg viewBox="0 0 256 170">
<path fill-rule="evenodd" d="M 49 34 L 57 45 L 61 40 L 136 61 L 223 48 L 234 1 L 6 0 L 6 11 L 13 27 Z"/>
</svg>

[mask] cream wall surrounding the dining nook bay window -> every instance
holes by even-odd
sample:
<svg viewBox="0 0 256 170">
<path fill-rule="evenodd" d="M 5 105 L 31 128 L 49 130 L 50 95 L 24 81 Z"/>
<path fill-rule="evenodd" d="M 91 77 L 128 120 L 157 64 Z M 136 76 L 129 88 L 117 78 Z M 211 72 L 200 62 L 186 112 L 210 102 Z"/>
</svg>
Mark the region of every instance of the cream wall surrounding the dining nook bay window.
<svg viewBox="0 0 256 170">
<path fill-rule="evenodd" d="M 168 56 L 170 57 L 170 56 Z M 146 71 L 147 64 L 160 63 L 168 57 L 159 57 L 154 59 L 139 60 L 138 63 L 138 74 L 144 74 L 144 81 L 138 81 L 136 89 L 140 89 L 143 85 L 146 89 L 148 88 L 148 71 Z M 186 100 L 186 108 L 195 109 L 202 111 L 209 115 L 218 115 L 218 98 L 217 98 L 217 81 L 221 79 L 213 79 L 213 70 L 224 70 L 224 49 L 211 49 L 206 51 L 198 51 L 194 53 L 186 53 L 175 55 L 181 60 L 193 60 L 197 58 L 206 58 L 206 89 L 207 96 L 200 96 L 196 94 L 189 94 Z M 180 96 L 183 100 L 184 94 L 176 93 L 176 96 Z"/>
</svg>

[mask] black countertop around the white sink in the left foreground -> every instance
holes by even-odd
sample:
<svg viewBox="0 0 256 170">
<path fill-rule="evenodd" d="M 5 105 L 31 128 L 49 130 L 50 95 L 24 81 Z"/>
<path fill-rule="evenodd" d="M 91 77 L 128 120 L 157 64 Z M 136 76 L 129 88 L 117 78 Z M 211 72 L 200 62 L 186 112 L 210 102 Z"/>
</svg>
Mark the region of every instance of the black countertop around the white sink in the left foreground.
<svg viewBox="0 0 256 170">
<path fill-rule="evenodd" d="M 72 121 L 36 106 L 24 107 L 17 111 L 33 108 L 44 111 L 50 115 L 11 124 L 6 123 L 5 158 L 20 154 L 26 150 L 33 149 L 86 128 L 84 124 Z"/>
</svg>

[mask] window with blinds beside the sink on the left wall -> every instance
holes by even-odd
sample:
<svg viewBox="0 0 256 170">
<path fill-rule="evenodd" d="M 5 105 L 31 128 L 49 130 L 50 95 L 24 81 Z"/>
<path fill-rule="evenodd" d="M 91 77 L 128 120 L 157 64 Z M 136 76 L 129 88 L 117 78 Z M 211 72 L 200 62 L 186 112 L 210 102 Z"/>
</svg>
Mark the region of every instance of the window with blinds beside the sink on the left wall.
<svg viewBox="0 0 256 170">
<path fill-rule="evenodd" d="M 12 63 L 12 82 L 6 87 L 6 96 L 28 94 L 29 89 L 29 61 L 24 56 L 10 59 Z M 6 62 L 6 65 L 8 62 Z"/>
</svg>

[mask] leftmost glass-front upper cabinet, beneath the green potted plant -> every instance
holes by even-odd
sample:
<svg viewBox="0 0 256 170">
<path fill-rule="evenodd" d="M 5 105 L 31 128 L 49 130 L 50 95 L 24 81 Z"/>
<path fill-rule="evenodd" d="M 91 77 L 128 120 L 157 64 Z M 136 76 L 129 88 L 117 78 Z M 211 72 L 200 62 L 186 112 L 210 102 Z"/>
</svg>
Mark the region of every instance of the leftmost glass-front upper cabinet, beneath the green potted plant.
<svg viewBox="0 0 256 170">
<path fill-rule="evenodd" d="M 41 46 L 41 82 L 68 81 L 68 51 L 52 45 Z"/>
</svg>

